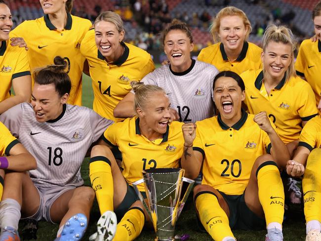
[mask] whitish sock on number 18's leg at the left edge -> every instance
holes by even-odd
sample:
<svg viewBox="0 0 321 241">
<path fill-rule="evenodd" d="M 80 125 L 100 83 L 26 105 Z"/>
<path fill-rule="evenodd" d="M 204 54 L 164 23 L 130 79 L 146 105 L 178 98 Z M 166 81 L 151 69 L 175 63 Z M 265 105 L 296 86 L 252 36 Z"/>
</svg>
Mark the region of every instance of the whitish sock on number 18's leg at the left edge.
<svg viewBox="0 0 321 241">
<path fill-rule="evenodd" d="M 0 202 L 0 228 L 9 226 L 18 230 L 21 217 L 21 206 L 14 199 L 4 199 Z"/>
</svg>

